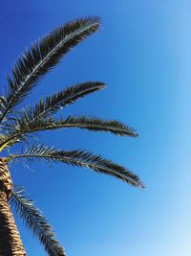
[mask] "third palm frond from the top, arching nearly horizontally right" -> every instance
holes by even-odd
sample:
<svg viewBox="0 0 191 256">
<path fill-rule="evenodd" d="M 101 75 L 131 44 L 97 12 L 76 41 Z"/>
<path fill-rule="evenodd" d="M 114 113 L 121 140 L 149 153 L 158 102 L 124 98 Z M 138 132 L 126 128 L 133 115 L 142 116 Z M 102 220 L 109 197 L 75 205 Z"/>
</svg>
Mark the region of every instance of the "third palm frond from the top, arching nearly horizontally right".
<svg viewBox="0 0 191 256">
<path fill-rule="evenodd" d="M 67 119 L 53 120 L 39 119 L 32 122 L 33 119 L 23 118 L 18 121 L 18 126 L 13 132 L 4 135 L 0 141 L 0 151 L 10 147 L 11 145 L 26 140 L 26 136 L 32 132 L 46 131 L 59 128 L 82 128 L 92 131 L 107 131 L 118 136 L 138 137 L 138 133 L 134 128 L 130 128 L 116 120 L 102 120 L 89 116 L 69 116 Z M 33 120 L 34 121 L 34 120 Z"/>
</svg>

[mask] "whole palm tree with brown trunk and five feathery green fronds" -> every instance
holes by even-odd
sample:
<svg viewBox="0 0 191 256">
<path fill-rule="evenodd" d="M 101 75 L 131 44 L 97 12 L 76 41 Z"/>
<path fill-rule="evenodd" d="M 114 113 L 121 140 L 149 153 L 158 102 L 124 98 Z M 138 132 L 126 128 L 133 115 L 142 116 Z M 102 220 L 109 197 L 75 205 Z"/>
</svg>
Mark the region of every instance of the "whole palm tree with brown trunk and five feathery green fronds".
<svg viewBox="0 0 191 256">
<path fill-rule="evenodd" d="M 48 73 L 62 57 L 93 35 L 100 26 L 97 16 L 80 18 L 53 30 L 52 33 L 33 43 L 22 57 L 18 58 L 7 76 L 8 88 L 0 97 L 0 255 L 26 255 L 11 207 L 44 245 L 51 256 L 66 255 L 56 240 L 53 228 L 31 198 L 26 197 L 23 187 L 13 185 L 9 164 L 18 158 L 61 162 L 68 165 L 90 168 L 96 173 L 113 175 L 128 184 L 143 188 L 138 175 L 128 169 L 95 155 L 89 151 L 56 150 L 43 144 L 32 144 L 32 137 L 39 131 L 58 128 L 82 128 L 93 131 L 109 131 L 119 136 L 137 137 L 133 128 L 114 120 L 102 120 L 89 116 L 68 116 L 55 118 L 56 111 L 76 100 L 105 88 L 101 81 L 86 81 L 74 84 L 41 99 L 32 106 L 21 107 L 23 100 L 33 87 Z M 20 107 L 20 108 L 19 108 Z M 23 110 L 24 109 L 24 110 Z M 26 144 L 26 142 L 28 142 Z M 15 144 L 31 144 L 24 151 L 8 153 Z M 20 147 L 19 147 L 20 149 Z M 4 153 L 5 152 L 5 153 Z M 5 156 L 6 155 L 6 156 Z"/>
</svg>

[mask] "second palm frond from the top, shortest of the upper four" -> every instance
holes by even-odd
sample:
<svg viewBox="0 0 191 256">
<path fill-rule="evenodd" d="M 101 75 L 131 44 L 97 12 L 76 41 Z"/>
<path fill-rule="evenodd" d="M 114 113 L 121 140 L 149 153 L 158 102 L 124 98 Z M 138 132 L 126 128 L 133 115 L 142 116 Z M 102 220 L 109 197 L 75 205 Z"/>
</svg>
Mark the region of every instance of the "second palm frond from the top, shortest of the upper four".
<svg viewBox="0 0 191 256">
<path fill-rule="evenodd" d="M 105 88 L 105 84 L 101 81 L 87 81 L 70 86 L 45 98 L 45 100 L 42 99 L 34 107 L 26 109 L 20 117 L 15 116 L 14 124 L 8 125 L 9 128 L 4 128 L 8 132 L 0 140 L 0 151 L 25 138 L 24 134 L 38 130 L 36 127 L 39 127 L 39 124 L 47 123 L 46 118 L 60 107 L 70 105 L 76 100 L 103 88 Z"/>
</svg>

